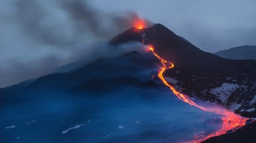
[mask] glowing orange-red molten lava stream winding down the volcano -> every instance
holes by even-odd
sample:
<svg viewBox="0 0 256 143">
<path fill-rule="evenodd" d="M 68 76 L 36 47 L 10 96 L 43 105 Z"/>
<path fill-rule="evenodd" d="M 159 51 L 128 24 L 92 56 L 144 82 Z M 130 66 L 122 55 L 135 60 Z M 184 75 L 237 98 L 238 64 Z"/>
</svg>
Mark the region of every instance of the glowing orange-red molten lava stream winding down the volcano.
<svg viewBox="0 0 256 143">
<path fill-rule="evenodd" d="M 214 137 L 214 136 L 218 136 L 218 135 L 222 135 L 222 134 L 226 134 L 226 131 L 229 130 L 236 130 L 241 126 L 244 126 L 246 124 L 246 118 L 241 117 L 240 115 L 237 115 L 227 109 L 221 108 L 221 107 L 211 107 L 211 108 L 206 108 L 206 107 L 202 107 L 198 104 L 196 104 L 194 101 L 190 100 L 189 96 L 186 96 L 182 93 L 179 93 L 178 91 L 175 90 L 175 88 L 173 86 L 170 86 L 169 83 L 165 80 L 165 78 L 163 78 L 163 72 L 165 72 L 166 69 L 170 69 L 174 67 L 174 64 L 170 63 L 169 61 L 164 60 L 163 58 L 161 58 L 160 56 L 158 56 L 157 53 L 154 52 L 154 48 L 150 47 L 150 50 L 152 51 L 152 53 L 154 53 L 154 55 L 156 57 L 159 58 L 159 60 L 161 61 L 161 63 L 163 64 L 163 67 L 159 70 L 158 72 L 158 76 L 159 78 L 162 80 L 162 82 L 168 86 L 170 88 L 170 90 L 173 91 L 173 93 L 180 99 L 183 100 L 184 102 L 187 102 L 188 104 L 195 106 L 197 108 L 200 108 L 204 111 L 208 111 L 208 112 L 215 112 L 217 114 L 223 115 L 223 117 L 221 118 L 223 121 L 222 124 L 222 129 L 219 131 L 216 131 L 216 133 L 214 134 L 210 134 L 210 135 L 204 135 L 203 133 L 200 135 L 195 135 L 194 138 L 197 138 L 193 141 L 189 141 L 189 142 L 202 142 L 204 140 L 207 140 L 210 137 Z"/>
</svg>

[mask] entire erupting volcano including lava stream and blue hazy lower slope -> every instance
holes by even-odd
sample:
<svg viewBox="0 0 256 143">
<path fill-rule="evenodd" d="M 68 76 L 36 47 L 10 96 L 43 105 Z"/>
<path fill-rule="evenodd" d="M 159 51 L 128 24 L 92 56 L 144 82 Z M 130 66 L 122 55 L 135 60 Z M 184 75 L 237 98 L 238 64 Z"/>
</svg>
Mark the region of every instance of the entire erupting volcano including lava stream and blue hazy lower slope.
<svg viewBox="0 0 256 143">
<path fill-rule="evenodd" d="M 0 89 L 1 141 L 194 142 L 225 134 L 220 133 L 223 124 L 235 123 L 223 120 L 225 115 L 202 113 L 206 108 L 195 101 L 230 109 L 223 111 L 241 124 L 227 132 L 250 132 L 247 139 L 255 141 L 255 123 L 240 128 L 246 118 L 239 115 L 256 117 L 256 61 L 204 52 L 161 24 L 130 28 L 108 47 L 116 50 L 134 42 L 148 47 L 148 52 L 99 57 L 89 63 L 84 58 Z"/>
</svg>

